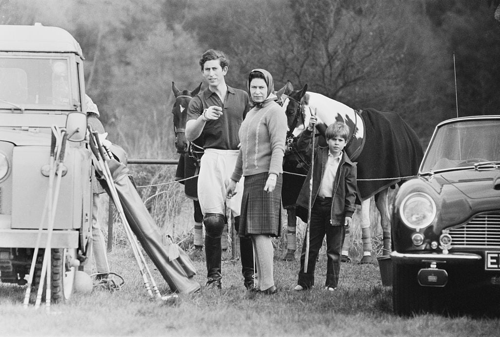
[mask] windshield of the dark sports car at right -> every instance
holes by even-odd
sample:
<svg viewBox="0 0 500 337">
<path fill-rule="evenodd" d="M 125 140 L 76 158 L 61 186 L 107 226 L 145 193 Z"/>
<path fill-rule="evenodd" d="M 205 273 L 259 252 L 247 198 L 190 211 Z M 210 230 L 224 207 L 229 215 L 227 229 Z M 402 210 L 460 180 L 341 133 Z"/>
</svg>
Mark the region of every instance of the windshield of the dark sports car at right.
<svg viewBox="0 0 500 337">
<path fill-rule="evenodd" d="M 500 120 L 467 120 L 441 126 L 431 140 L 421 172 L 500 160 Z"/>
</svg>

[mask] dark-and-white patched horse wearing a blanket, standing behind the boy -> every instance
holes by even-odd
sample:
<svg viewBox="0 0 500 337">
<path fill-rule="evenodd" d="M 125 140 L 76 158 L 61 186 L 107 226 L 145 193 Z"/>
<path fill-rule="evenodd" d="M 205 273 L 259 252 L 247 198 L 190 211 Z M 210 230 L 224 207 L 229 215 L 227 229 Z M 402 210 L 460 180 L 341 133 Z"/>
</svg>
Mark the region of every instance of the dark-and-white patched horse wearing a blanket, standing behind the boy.
<svg viewBox="0 0 500 337">
<path fill-rule="evenodd" d="M 345 151 L 352 161 L 357 162 L 357 188 L 361 201 L 360 223 L 363 240 L 361 262 L 371 261 L 369 202 L 372 196 L 380 212 L 383 251 L 388 254 L 391 251 L 388 189 L 417 173 L 423 157 L 420 141 L 413 129 L 393 111 L 377 111 L 372 108 L 354 110 L 341 102 L 306 90 L 307 85 L 301 90 L 293 90 L 292 84 L 287 82 L 278 91 L 283 92 L 281 100 L 289 128 L 283 170 L 290 173 L 303 173 L 306 170 L 310 157 L 296 151 L 294 143 L 297 135 L 307 126 L 311 114 L 317 116 L 316 130 L 322 136 L 326 127 L 335 121 L 343 121 L 349 125 L 352 135 L 348 139 Z M 297 185 L 300 188 L 304 177 L 290 173 L 283 174 L 282 190 L 283 206 L 288 211 L 288 230 L 292 231 L 290 227 L 296 225 L 293 200 L 298 195 L 294 193 L 298 193 Z M 302 214 L 299 212 L 297 209 L 297 215 L 301 215 L 303 219 L 303 210 Z M 288 248 L 287 256 L 290 257 L 289 254 L 294 251 L 290 245 Z"/>
</svg>

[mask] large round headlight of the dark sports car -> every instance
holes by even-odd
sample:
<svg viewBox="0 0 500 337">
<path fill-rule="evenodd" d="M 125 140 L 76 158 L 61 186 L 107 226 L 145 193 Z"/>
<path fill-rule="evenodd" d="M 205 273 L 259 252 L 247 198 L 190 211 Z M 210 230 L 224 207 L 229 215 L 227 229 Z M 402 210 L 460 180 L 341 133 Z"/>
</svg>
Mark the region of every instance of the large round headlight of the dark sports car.
<svg viewBox="0 0 500 337">
<path fill-rule="evenodd" d="M 436 204 L 426 193 L 408 194 L 399 207 L 401 220 L 410 228 L 420 229 L 428 226 L 436 216 Z"/>
</svg>

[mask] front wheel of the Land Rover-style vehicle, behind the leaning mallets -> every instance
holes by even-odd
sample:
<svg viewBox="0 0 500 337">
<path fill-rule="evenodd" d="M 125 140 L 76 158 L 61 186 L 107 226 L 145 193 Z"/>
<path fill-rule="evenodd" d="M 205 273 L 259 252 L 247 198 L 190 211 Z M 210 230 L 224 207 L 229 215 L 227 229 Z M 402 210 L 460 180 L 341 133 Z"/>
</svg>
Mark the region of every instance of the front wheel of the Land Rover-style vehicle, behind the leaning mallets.
<svg viewBox="0 0 500 337">
<path fill-rule="evenodd" d="M 44 249 L 40 249 L 35 268 L 35 279 L 33 286 L 38 289 L 40 284 L 41 266 L 43 260 Z M 71 297 L 73 292 L 74 275 L 76 267 L 70 266 L 71 259 L 76 258 L 76 249 L 70 248 L 54 248 L 52 249 L 51 263 L 51 282 L 50 282 L 50 302 L 58 303 L 65 302 Z M 45 285 L 42 293 L 42 298 L 45 298 Z M 36 294 L 33 294 L 36 295 Z"/>
</svg>

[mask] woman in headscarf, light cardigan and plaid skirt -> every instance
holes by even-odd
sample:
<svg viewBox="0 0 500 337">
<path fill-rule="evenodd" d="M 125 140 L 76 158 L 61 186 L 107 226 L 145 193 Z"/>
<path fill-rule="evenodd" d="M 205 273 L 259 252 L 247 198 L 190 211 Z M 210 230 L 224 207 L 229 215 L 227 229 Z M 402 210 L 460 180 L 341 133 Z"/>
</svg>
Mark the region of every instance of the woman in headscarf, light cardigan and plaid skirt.
<svg viewBox="0 0 500 337">
<path fill-rule="evenodd" d="M 249 291 L 272 294 L 277 290 L 270 236 L 279 236 L 281 229 L 286 115 L 275 102 L 277 97 L 268 71 L 252 70 L 247 85 L 254 105 L 239 128 L 241 146 L 226 194 L 230 198 L 236 183 L 245 177 L 238 234 L 251 238 L 258 276 L 258 282 Z"/>
</svg>

